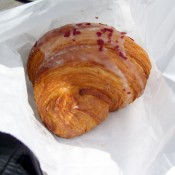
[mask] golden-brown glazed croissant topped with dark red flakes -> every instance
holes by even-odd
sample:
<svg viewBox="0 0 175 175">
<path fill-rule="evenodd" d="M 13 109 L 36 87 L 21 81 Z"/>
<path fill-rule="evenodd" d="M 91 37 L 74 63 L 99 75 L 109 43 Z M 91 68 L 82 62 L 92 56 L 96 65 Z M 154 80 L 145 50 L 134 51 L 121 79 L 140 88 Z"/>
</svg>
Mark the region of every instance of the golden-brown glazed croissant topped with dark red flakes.
<svg viewBox="0 0 175 175">
<path fill-rule="evenodd" d="M 33 46 L 27 63 L 38 113 L 54 134 L 72 138 L 133 102 L 151 63 L 133 39 L 96 23 L 53 29 Z"/>
</svg>

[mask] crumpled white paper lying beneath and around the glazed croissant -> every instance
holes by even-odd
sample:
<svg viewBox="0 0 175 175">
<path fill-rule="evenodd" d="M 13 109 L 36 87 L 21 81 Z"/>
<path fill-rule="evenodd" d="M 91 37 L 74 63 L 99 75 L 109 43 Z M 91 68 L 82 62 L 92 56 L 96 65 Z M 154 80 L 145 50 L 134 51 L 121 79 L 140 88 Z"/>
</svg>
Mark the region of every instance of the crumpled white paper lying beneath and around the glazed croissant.
<svg viewBox="0 0 175 175">
<path fill-rule="evenodd" d="M 84 21 L 107 23 L 147 46 L 122 0 L 44 0 L 0 13 L 0 130 L 23 141 L 48 175 L 164 175 L 175 165 L 175 94 L 157 70 L 154 48 L 143 96 L 93 131 L 66 140 L 41 123 L 26 75 L 29 51 L 46 31 Z"/>
</svg>

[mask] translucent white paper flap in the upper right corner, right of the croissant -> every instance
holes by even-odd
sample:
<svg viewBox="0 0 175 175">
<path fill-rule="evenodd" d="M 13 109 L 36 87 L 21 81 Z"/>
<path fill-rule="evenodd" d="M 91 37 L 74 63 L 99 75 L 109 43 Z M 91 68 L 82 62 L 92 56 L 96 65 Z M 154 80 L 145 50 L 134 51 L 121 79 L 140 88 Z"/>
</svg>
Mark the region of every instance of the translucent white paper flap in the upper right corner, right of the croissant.
<svg viewBox="0 0 175 175">
<path fill-rule="evenodd" d="M 175 92 L 174 0 L 127 0 L 144 45 Z"/>
</svg>

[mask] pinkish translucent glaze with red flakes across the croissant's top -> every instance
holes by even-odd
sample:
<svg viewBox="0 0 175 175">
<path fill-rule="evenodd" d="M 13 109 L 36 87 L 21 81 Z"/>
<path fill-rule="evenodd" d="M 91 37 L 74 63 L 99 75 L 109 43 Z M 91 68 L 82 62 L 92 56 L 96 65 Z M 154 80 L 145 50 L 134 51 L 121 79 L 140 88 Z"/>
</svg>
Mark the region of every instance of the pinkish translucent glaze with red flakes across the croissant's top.
<svg viewBox="0 0 175 175">
<path fill-rule="evenodd" d="M 91 35 L 89 35 L 89 31 Z M 124 48 L 125 34 L 125 32 L 119 32 L 104 24 L 99 25 L 94 23 L 72 24 L 63 26 L 60 29 L 54 29 L 43 36 L 35 46 L 45 55 L 39 72 L 42 72 L 45 68 L 50 69 L 52 67 L 62 66 L 70 61 L 77 61 L 78 63 L 81 61 L 95 61 L 121 78 L 124 84 L 123 91 L 131 92 L 124 73 L 111 60 L 108 53 L 108 48 L 114 49 L 119 56 L 118 59 L 121 59 L 127 67 L 130 67 L 131 73 L 135 75 L 138 81 L 141 81 L 137 71 L 135 71 L 134 64 L 127 58 Z M 63 42 L 65 45 L 64 49 L 58 49 L 53 55 L 52 50 L 54 49 L 54 45 L 61 45 Z M 128 101 L 131 100 L 131 97 L 126 98 L 128 98 Z"/>
</svg>

